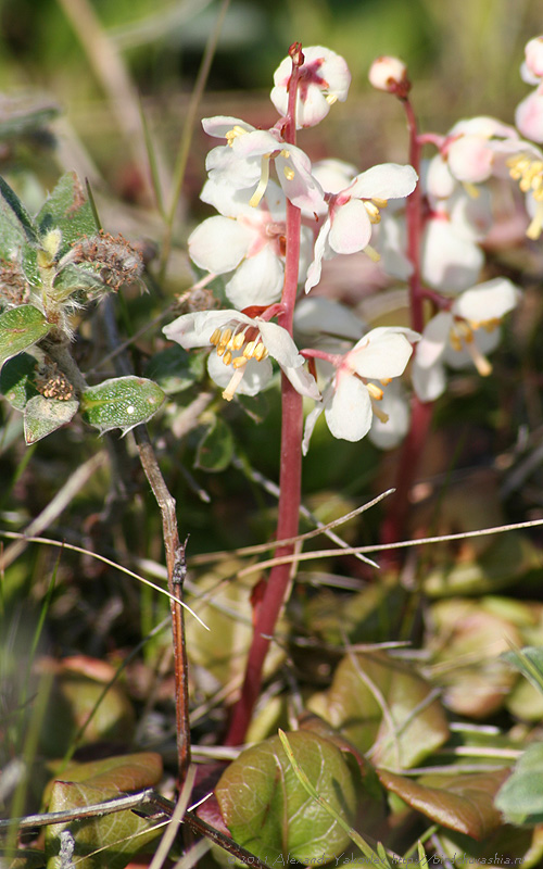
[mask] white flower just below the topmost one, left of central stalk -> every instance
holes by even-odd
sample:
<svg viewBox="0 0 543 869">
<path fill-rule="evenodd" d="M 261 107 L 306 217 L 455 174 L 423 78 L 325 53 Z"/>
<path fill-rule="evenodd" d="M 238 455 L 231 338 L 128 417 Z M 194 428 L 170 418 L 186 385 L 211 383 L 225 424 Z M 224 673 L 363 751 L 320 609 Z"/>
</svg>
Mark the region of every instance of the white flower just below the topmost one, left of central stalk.
<svg viewBox="0 0 543 869">
<path fill-rule="evenodd" d="M 275 127 L 256 129 L 238 117 L 204 117 L 202 126 L 210 136 L 226 139 L 228 144 L 213 148 L 205 168 L 218 184 L 243 190 L 251 188 L 251 205 L 257 205 L 269 179 L 269 164 L 275 163 L 283 193 L 299 209 L 318 210 L 323 189 L 311 172 L 311 160 L 301 148 L 286 142 Z"/>
</svg>

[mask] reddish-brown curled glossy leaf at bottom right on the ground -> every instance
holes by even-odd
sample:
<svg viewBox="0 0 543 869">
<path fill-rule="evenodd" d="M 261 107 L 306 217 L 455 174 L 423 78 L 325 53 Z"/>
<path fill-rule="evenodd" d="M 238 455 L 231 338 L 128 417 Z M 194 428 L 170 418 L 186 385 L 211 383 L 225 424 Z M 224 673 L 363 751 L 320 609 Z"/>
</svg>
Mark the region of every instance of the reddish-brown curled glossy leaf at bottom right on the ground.
<svg viewBox="0 0 543 869">
<path fill-rule="evenodd" d="M 424 776 L 418 780 L 378 770 L 381 783 L 432 821 L 480 840 L 501 824 L 494 806 L 508 769 L 469 774 Z"/>
</svg>

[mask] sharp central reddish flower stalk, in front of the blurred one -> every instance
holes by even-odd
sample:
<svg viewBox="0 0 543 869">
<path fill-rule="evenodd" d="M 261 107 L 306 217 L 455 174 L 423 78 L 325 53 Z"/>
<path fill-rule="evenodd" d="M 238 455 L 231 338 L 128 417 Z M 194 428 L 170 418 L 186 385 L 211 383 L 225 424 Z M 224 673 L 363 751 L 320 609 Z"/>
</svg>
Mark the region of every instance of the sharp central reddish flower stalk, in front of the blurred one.
<svg viewBox="0 0 543 869">
<path fill-rule="evenodd" d="M 295 105 L 300 70 L 304 62 L 300 42 L 294 42 L 289 50 L 292 59 L 292 75 L 289 81 L 289 106 L 283 127 L 285 141 L 295 144 Z M 278 323 L 292 335 L 292 319 L 298 290 L 298 270 L 300 261 L 301 212 L 287 200 L 287 250 L 285 263 L 285 284 L 282 289 L 282 311 Z M 302 396 L 295 391 L 289 379 L 281 377 L 281 455 L 279 471 L 279 505 L 277 521 L 277 539 L 285 540 L 298 533 L 301 480 L 302 480 L 302 433 L 303 408 Z M 292 545 L 280 546 L 277 556 L 291 555 Z M 233 707 L 230 727 L 225 740 L 226 745 L 239 745 L 245 739 L 251 722 L 254 704 L 258 698 L 262 685 L 264 662 L 275 632 L 277 619 L 287 599 L 290 584 L 290 564 L 273 567 L 266 583 L 264 596 L 258 603 L 253 639 L 245 668 L 245 677 L 241 696 Z"/>
</svg>

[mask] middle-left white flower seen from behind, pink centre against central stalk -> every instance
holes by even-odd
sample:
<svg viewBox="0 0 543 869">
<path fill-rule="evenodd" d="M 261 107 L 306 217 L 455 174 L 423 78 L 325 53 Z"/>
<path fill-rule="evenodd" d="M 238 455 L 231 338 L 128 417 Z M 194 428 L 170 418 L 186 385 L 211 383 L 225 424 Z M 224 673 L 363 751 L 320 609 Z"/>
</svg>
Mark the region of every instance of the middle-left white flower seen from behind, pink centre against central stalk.
<svg viewBox="0 0 543 869">
<path fill-rule="evenodd" d="M 268 305 L 280 299 L 285 278 L 286 200 L 269 181 L 257 207 L 249 205 L 249 191 L 206 181 L 201 199 L 220 216 L 209 217 L 189 237 L 189 255 L 201 268 L 224 275 L 228 300 L 242 310 Z M 312 232 L 302 227 L 300 274 L 312 252 Z"/>
</svg>

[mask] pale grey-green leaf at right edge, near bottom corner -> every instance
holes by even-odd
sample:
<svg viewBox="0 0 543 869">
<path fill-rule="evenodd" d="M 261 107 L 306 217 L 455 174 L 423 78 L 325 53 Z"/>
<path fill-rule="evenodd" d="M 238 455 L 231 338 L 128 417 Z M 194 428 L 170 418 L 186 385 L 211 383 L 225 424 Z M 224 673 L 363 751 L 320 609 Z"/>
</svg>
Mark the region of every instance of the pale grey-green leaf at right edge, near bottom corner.
<svg viewBox="0 0 543 869">
<path fill-rule="evenodd" d="M 543 823 L 543 742 L 529 745 L 495 798 L 508 823 Z"/>
</svg>

